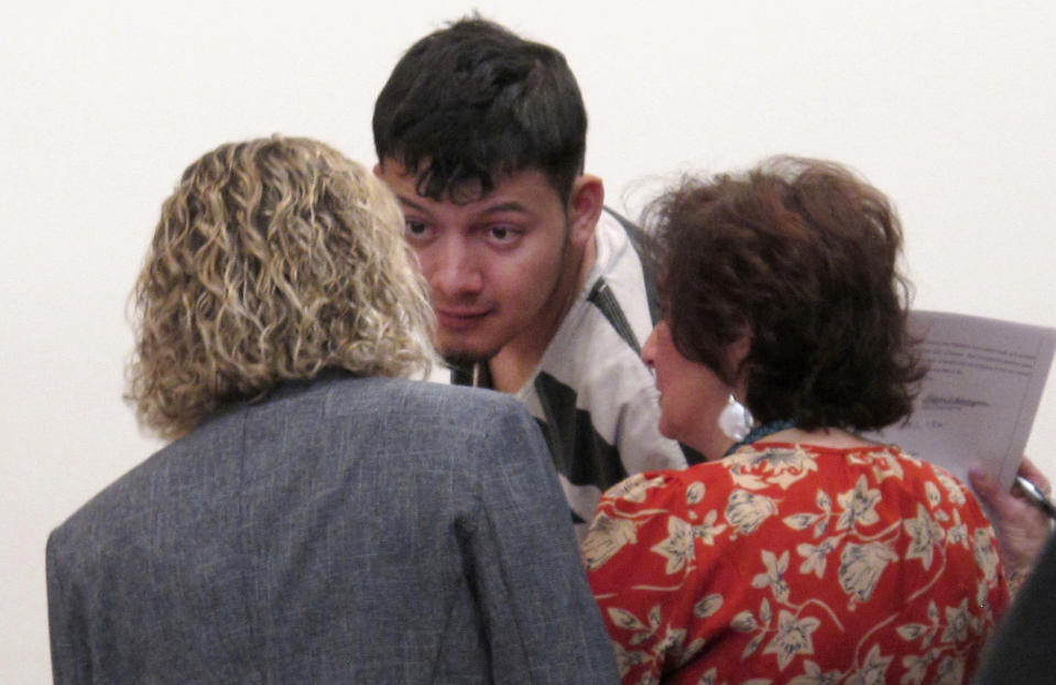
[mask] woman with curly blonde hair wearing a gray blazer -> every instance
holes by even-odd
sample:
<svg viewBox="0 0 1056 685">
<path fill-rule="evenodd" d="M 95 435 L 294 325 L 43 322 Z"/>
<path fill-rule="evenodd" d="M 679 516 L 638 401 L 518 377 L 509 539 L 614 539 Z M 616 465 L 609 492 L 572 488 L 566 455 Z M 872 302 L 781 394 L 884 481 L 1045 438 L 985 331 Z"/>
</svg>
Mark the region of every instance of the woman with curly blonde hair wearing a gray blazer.
<svg viewBox="0 0 1056 685">
<path fill-rule="evenodd" d="M 614 679 L 532 417 L 401 378 L 432 357 L 402 232 L 315 141 L 187 168 L 129 390 L 175 441 L 48 539 L 56 683 Z"/>
</svg>

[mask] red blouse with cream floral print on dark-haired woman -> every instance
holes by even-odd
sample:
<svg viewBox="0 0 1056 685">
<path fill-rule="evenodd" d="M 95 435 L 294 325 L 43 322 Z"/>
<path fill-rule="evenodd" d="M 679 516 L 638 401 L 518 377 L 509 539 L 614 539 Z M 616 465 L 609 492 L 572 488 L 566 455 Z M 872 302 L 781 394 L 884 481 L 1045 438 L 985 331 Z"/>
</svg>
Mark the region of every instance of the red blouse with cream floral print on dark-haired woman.
<svg viewBox="0 0 1056 685">
<path fill-rule="evenodd" d="M 962 683 L 1009 602 L 973 496 L 891 446 L 632 476 L 583 557 L 625 685 Z"/>
</svg>

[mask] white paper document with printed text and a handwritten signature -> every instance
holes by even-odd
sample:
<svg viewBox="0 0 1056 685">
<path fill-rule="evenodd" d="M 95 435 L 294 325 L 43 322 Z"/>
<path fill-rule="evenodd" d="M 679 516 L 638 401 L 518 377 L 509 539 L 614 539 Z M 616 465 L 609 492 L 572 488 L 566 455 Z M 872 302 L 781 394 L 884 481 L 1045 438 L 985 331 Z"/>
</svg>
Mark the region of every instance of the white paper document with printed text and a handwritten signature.
<svg viewBox="0 0 1056 685">
<path fill-rule="evenodd" d="M 946 467 L 965 483 L 978 468 L 1012 487 L 1056 346 L 1056 330 L 915 311 L 928 365 L 908 424 L 869 437 Z"/>
</svg>

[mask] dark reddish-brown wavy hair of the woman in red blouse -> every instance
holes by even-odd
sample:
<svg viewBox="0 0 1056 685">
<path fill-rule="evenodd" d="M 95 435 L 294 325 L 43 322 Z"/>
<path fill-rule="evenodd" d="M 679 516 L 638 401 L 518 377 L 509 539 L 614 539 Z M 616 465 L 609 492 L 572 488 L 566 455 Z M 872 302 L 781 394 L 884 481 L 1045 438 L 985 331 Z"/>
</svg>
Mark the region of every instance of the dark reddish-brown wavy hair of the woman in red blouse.
<svg viewBox="0 0 1056 685">
<path fill-rule="evenodd" d="M 743 374 L 758 420 L 867 431 L 910 413 L 925 369 L 895 267 L 902 229 L 874 187 L 832 162 L 774 157 L 684 178 L 645 222 L 675 346 L 731 384 Z"/>
</svg>

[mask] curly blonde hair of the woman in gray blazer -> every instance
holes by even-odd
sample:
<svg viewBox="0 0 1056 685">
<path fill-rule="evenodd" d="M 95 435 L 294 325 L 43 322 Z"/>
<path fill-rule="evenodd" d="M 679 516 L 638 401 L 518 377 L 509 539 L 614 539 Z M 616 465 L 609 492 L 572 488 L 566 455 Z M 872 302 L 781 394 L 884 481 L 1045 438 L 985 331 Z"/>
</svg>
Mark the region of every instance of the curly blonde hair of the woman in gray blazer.
<svg viewBox="0 0 1056 685">
<path fill-rule="evenodd" d="M 187 167 L 132 293 L 126 399 L 177 438 L 224 403 L 324 368 L 428 373 L 435 326 L 391 193 L 303 138 L 220 145 Z"/>
</svg>

